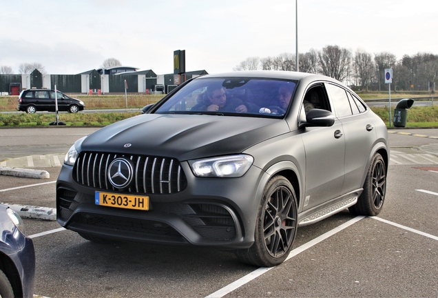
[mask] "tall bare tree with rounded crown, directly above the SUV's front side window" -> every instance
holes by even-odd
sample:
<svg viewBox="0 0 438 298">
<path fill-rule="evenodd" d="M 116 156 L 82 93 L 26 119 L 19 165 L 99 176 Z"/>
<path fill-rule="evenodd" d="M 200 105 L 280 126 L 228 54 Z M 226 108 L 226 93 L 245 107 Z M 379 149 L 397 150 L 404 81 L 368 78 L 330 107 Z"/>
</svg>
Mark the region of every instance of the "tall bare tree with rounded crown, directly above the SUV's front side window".
<svg viewBox="0 0 438 298">
<path fill-rule="evenodd" d="M 339 46 L 326 46 L 318 53 L 320 72 L 338 81 L 344 81 L 351 68 L 351 52 Z"/>
</svg>

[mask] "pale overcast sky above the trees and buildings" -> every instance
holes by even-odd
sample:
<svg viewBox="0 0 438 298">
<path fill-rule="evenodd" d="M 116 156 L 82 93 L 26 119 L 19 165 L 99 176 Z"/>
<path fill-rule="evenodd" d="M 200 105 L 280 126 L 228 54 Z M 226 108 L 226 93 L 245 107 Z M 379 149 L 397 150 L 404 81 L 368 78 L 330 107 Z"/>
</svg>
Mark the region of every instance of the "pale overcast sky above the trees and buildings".
<svg viewBox="0 0 438 298">
<path fill-rule="evenodd" d="M 298 48 L 438 54 L 438 2 L 298 0 Z M 0 0 L 0 66 L 41 63 L 77 74 L 107 58 L 173 72 L 233 70 L 248 57 L 295 53 L 295 0 Z"/>
</svg>

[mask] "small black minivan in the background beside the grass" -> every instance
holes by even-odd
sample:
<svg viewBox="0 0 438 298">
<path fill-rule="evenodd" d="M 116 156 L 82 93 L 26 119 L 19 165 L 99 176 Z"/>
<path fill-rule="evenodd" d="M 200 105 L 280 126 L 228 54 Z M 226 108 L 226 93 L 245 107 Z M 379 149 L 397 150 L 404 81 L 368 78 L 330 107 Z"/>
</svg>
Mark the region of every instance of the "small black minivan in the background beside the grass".
<svg viewBox="0 0 438 298">
<path fill-rule="evenodd" d="M 85 108 L 85 103 L 56 91 L 58 110 L 79 112 Z M 18 110 L 33 114 L 38 111 L 55 112 L 55 91 L 49 89 L 28 89 L 21 91 Z"/>
</svg>

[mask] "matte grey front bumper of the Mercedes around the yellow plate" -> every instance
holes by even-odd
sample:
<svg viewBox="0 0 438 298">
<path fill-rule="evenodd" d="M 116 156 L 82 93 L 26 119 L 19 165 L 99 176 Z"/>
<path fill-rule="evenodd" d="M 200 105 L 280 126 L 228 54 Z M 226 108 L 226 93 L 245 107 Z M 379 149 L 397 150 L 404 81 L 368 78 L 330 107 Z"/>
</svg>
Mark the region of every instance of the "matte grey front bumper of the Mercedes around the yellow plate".
<svg viewBox="0 0 438 298">
<path fill-rule="evenodd" d="M 95 205 L 94 192 L 101 188 L 77 183 L 73 167 L 64 164 L 56 183 L 57 220 L 67 229 L 96 237 L 249 248 L 267 175 L 252 166 L 240 178 L 200 178 L 187 163 L 181 166 L 187 188 L 146 193 L 150 208 L 142 211 Z"/>
</svg>

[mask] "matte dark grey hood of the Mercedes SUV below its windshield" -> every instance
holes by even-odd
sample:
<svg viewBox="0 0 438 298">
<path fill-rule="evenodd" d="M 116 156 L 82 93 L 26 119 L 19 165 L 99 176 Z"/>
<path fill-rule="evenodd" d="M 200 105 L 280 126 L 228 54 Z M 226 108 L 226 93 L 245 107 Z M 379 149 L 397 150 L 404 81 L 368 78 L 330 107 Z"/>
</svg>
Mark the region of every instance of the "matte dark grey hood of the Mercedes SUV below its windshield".
<svg viewBox="0 0 438 298">
<path fill-rule="evenodd" d="M 283 119 L 145 114 L 97 130 L 76 149 L 185 161 L 240 153 L 286 132 L 289 126 Z M 124 148 L 126 143 L 132 145 Z"/>
</svg>

